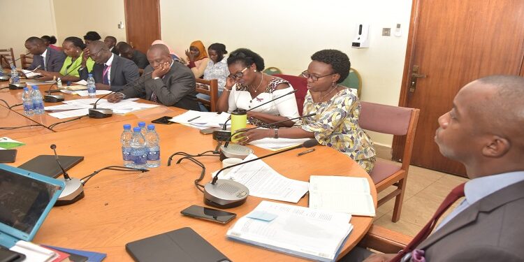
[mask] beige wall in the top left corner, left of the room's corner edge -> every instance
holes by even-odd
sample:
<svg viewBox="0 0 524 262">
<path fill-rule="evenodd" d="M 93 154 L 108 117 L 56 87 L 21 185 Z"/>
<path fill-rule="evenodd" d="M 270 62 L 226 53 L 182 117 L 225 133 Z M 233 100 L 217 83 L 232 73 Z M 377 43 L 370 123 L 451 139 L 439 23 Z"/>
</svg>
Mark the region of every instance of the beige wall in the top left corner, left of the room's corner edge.
<svg viewBox="0 0 524 262">
<path fill-rule="evenodd" d="M 24 43 L 30 36 L 57 34 L 52 0 L 0 0 L 0 11 L 0 48 L 13 48 L 16 58 L 26 53 Z M 17 66 L 20 67 L 20 62 Z"/>
</svg>

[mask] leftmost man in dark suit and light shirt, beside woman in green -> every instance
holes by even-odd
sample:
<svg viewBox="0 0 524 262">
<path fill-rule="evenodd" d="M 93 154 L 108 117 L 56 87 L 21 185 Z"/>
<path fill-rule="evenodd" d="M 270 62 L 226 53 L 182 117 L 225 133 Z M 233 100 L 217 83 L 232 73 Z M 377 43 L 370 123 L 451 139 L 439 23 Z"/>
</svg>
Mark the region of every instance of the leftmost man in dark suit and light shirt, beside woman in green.
<svg viewBox="0 0 524 262">
<path fill-rule="evenodd" d="M 43 71 L 59 72 L 64 65 L 66 59 L 64 52 L 46 47 L 41 38 L 36 36 L 27 38 L 25 48 L 33 54 L 33 63 L 27 68 L 28 70 L 34 70 L 40 66 L 39 68 Z"/>
</svg>

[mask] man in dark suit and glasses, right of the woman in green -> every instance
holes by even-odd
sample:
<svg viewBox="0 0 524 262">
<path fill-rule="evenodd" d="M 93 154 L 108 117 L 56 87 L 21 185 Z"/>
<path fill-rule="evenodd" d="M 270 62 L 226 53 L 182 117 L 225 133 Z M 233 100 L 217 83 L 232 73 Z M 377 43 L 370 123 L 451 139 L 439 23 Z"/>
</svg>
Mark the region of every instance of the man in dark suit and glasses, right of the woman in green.
<svg viewBox="0 0 524 262">
<path fill-rule="evenodd" d="M 87 56 L 95 62 L 91 73 L 96 82 L 96 89 L 117 92 L 138 79 L 138 67 L 133 61 L 113 54 L 102 41 L 92 41 L 87 45 L 82 57 L 82 65 L 78 69 L 82 80 L 87 80 L 89 77 L 85 66 Z"/>
</svg>

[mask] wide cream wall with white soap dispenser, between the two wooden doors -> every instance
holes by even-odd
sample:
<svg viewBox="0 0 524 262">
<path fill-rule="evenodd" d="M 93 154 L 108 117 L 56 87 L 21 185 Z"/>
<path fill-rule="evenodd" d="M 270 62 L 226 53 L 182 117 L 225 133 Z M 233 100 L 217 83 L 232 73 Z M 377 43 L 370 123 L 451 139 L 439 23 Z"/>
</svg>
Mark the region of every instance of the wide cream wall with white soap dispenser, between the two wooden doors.
<svg viewBox="0 0 524 262">
<path fill-rule="evenodd" d="M 346 52 L 363 78 L 362 100 L 398 105 L 412 0 L 194 1 L 160 0 L 162 38 L 177 54 L 189 43 L 224 43 L 228 51 L 250 48 L 266 66 L 298 75 L 322 49 Z M 246 11 L 249 10 L 249 11 Z M 197 15 L 196 15 L 197 13 Z M 351 48 L 356 24 L 370 24 L 370 48 Z M 401 24 L 402 36 L 381 36 Z M 372 134 L 391 145 L 391 136 Z"/>
</svg>

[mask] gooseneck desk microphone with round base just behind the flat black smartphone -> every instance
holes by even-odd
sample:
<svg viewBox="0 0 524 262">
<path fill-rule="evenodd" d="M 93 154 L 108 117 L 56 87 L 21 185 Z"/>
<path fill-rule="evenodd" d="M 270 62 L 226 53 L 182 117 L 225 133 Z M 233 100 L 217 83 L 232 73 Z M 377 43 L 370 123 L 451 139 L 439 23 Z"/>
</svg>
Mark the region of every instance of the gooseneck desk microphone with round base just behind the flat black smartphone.
<svg viewBox="0 0 524 262">
<path fill-rule="evenodd" d="M 247 196 L 249 196 L 249 189 L 239 182 L 234 180 L 219 179 L 218 175 L 228 168 L 233 168 L 235 166 L 240 166 L 245 163 L 257 161 L 260 159 L 265 159 L 266 157 L 274 156 L 275 154 L 282 154 L 290 150 L 295 150 L 301 147 L 314 147 L 319 145 L 315 139 L 310 139 L 305 141 L 302 145 L 296 145 L 295 147 L 287 148 L 279 152 L 274 152 L 271 154 L 266 154 L 263 157 L 257 157 L 256 159 L 251 159 L 242 163 L 237 163 L 235 165 L 227 166 L 218 170 L 217 174 L 214 175 L 213 180 L 205 184 L 204 186 L 204 203 L 216 208 L 235 208 L 239 205 L 242 205 L 246 202 Z"/>
</svg>

